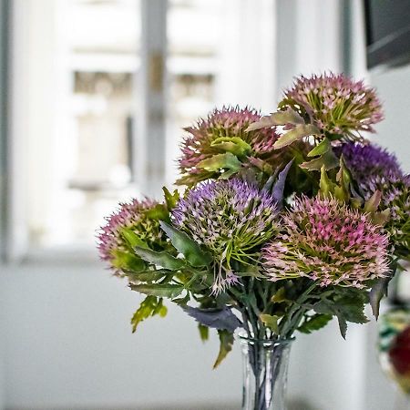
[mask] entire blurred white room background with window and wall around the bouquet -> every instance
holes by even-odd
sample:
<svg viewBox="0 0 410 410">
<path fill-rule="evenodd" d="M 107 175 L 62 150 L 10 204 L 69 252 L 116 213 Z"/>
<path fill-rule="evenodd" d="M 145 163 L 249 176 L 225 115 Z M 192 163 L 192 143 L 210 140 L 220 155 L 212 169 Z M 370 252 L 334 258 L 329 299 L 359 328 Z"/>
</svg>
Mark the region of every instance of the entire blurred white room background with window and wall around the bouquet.
<svg viewBox="0 0 410 410">
<path fill-rule="evenodd" d="M 218 341 L 172 306 L 131 333 L 139 296 L 95 231 L 172 184 L 182 127 L 223 104 L 268 114 L 299 74 L 377 87 L 372 138 L 410 171 L 410 1 L 0 0 L 0 26 L 0 408 L 240 408 L 237 348 L 212 371 Z M 298 335 L 291 410 L 398 408 L 376 333 Z"/>
</svg>

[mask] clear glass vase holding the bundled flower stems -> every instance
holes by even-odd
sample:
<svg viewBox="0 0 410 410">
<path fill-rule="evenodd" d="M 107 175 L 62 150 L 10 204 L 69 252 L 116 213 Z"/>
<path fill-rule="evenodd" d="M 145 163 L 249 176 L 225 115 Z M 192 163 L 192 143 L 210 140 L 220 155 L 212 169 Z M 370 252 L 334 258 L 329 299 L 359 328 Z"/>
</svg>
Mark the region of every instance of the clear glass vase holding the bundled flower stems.
<svg viewBox="0 0 410 410">
<path fill-rule="evenodd" d="M 242 410 L 286 410 L 286 384 L 293 339 L 258 340 L 240 336 Z"/>
</svg>

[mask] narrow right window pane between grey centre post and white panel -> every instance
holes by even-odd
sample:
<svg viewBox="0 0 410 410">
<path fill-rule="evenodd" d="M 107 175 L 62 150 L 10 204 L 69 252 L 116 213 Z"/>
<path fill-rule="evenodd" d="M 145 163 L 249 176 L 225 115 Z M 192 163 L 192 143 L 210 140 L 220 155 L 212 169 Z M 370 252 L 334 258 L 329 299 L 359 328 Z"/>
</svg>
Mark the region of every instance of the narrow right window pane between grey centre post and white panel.
<svg viewBox="0 0 410 410">
<path fill-rule="evenodd" d="M 220 72 L 220 13 L 218 0 L 170 0 L 168 182 L 177 179 L 181 128 L 206 115 L 216 104 Z"/>
</svg>

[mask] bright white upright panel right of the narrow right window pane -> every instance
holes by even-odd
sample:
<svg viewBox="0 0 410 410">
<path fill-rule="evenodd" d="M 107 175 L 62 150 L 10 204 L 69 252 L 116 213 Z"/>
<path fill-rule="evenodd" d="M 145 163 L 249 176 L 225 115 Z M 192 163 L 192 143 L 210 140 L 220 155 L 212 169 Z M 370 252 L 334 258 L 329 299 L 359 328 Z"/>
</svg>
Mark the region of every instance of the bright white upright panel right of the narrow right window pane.
<svg viewBox="0 0 410 410">
<path fill-rule="evenodd" d="M 270 112 L 276 97 L 276 7 L 272 0 L 224 0 L 217 101 Z"/>
</svg>

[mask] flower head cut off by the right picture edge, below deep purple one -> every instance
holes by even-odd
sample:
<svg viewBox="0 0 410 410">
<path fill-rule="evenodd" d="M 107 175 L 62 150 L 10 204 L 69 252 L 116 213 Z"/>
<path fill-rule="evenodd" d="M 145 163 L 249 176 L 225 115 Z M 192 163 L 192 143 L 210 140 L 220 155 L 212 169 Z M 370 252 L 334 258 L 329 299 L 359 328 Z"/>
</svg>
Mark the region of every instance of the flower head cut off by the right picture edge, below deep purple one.
<svg viewBox="0 0 410 410">
<path fill-rule="evenodd" d="M 410 175 L 394 172 L 375 175 L 367 180 L 362 189 L 366 199 L 378 190 L 382 193 L 380 210 L 390 210 L 384 230 L 400 256 L 410 259 Z"/>
</svg>

